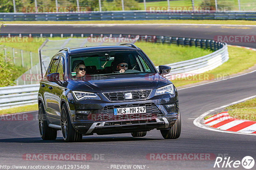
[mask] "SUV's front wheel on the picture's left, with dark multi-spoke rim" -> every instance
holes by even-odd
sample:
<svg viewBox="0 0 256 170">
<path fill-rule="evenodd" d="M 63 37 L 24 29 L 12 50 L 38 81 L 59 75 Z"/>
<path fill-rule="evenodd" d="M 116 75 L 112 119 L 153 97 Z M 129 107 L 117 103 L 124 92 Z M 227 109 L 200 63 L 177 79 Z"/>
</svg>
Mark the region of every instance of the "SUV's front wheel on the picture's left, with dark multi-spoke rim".
<svg viewBox="0 0 256 170">
<path fill-rule="evenodd" d="M 71 124 L 70 116 L 68 113 L 68 107 L 66 104 L 63 104 L 61 107 L 61 133 L 65 142 L 81 142 L 82 141 L 82 134 L 75 131 Z"/>
</svg>

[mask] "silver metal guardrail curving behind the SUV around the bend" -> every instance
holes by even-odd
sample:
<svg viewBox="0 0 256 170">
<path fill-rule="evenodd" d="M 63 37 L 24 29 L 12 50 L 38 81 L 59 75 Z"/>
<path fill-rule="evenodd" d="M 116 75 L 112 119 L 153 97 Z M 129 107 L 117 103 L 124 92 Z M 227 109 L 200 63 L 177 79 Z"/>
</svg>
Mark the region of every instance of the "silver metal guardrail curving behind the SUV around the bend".
<svg viewBox="0 0 256 170">
<path fill-rule="evenodd" d="M 79 34 L 81 35 L 81 34 Z M 63 35 L 62 35 L 63 36 Z M 88 34 L 83 35 L 88 37 L 95 36 L 106 36 L 103 34 Z M 122 36 L 138 37 L 138 35 L 122 35 L 122 34 L 111 34 L 111 37 Z M 140 35 L 138 41 L 146 41 L 152 43 L 162 44 L 175 44 L 183 46 L 195 46 L 205 49 L 211 49 L 214 51 L 208 55 L 198 57 L 191 60 L 180 61 L 176 63 L 167 64 L 172 67 L 171 73 L 165 75 L 170 78 L 173 74 L 180 73 L 194 73 L 199 74 L 208 70 L 212 70 L 220 66 L 222 63 L 228 60 L 228 47 L 226 43 L 217 42 L 209 39 L 190 39 L 182 37 L 170 37 L 170 36 L 148 36 Z M 158 66 L 157 66 L 158 68 Z M 20 85 L 0 88 L 0 110 L 4 108 L 10 108 L 12 106 L 19 106 L 23 104 L 36 103 L 37 102 L 37 91 L 39 84 L 32 85 Z"/>
</svg>

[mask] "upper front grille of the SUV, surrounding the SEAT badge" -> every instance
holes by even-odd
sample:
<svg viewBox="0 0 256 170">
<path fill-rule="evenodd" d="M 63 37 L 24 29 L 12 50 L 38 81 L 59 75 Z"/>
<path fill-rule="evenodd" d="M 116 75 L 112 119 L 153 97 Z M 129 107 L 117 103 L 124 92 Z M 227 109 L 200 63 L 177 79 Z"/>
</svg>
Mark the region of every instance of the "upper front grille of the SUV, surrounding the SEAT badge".
<svg viewBox="0 0 256 170">
<path fill-rule="evenodd" d="M 134 91 L 120 91 L 103 93 L 103 95 L 111 102 L 131 101 L 147 99 L 152 90 L 134 90 Z M 125 99 L 125 93 L 132 93 L 131 99 Z"/>
</svg>

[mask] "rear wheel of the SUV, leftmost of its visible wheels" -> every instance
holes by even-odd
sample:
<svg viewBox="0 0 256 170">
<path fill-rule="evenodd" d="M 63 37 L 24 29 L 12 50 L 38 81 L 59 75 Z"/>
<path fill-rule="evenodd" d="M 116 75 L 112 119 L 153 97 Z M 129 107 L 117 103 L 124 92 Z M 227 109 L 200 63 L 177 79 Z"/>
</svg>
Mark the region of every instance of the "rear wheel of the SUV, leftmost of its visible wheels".
<svg viewBox="0 0 256 170">
<path fill-rule="evenodd" d="M 57 130 L 47 124 L 43 103 L 40 103 L 38 107 L 38 125 L 43 140 L 55 140 L 57 138 Z"/>
</svg>

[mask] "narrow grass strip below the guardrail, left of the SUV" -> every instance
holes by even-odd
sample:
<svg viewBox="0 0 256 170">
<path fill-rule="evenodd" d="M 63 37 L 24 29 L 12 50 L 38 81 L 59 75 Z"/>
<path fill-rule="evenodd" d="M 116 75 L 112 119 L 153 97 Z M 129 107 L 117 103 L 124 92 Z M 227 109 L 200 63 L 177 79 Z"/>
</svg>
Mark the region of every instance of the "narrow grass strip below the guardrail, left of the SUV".
<svg viewBox="0 0 256 170">
<path fill-rule="evenodd" d="M 0 110 L 0 115 L 11 114 L 11 113 L 20 113 L 20 112 L 33 111 L 33 110 L 38 110 L 37 103 L 25 105 L 25 106 L 13 107 L 10 109 L 3 109 L 3 110 Z"/>
</svg>

